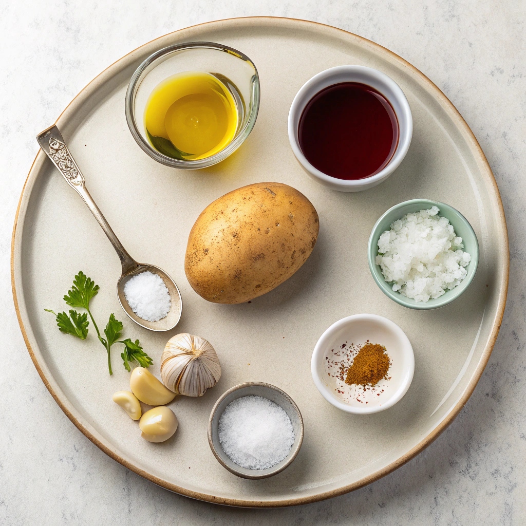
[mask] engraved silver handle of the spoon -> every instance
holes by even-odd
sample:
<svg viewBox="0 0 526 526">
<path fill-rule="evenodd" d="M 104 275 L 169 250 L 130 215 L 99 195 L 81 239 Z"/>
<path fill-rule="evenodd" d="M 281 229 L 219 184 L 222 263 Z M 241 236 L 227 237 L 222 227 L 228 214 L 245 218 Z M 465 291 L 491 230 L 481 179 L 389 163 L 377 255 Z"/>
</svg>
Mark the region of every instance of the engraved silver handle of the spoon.
<svg viewBox="0 0 526 526">
<path fill-rule="evenodd" d="M 41 134 L 37 135 L 37 140 L 38 144 L 44 150 L 44 153 L 53 161 L 53 164 L 64 176 L 69 186 L 74 188 L 78 195 L 82 197 L 84 203 L 86 203 L 92 211 L 95 219 L 99 222 L 106 236 L 108 236 L 108 239 L 119 256 L 120 264 L 123 267 L 123 275 L 137 268 L 137 262 L 128 254 L 112 230 L 112 227 L 109 226 L 108 221 L 106 221 L 106 218 L 95 204 L 92 196 L 89 195 L 84 184 L 84 176 L 80 173 L 77 163 L 75 163 L 58 128 L 55 125 L 47 128 Z"/>
</svg>

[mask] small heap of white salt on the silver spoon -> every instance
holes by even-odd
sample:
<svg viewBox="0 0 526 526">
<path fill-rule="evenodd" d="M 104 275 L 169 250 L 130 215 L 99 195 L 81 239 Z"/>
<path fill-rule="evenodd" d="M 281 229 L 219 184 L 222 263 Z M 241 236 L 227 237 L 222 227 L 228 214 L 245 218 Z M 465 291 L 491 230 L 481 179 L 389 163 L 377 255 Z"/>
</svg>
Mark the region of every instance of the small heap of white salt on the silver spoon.
<svg viewBox="0 0 526 526">
<path fill-rule="evenodd" d="M 126 281 L 124 296 L 139 318 L 158 321 L 170 311 L 171 301 L 163 278 L 146 270 Z"/>
</svg>

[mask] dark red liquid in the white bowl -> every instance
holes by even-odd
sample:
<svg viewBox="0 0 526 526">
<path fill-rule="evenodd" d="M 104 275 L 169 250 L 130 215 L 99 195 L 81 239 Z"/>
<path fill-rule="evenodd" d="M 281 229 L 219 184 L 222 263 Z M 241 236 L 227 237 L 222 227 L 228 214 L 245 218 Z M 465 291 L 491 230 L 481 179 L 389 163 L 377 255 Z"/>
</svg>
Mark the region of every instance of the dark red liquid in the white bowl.
<svg viewBox="0 0 526 526">
<path fill-rule="evenodd" d="M 386 167 L 398 145 L 398 119 L 376 89 L 334 84 L 313 96 L 298 125 L 309 163 L 338 179 L 363 179 Z"/>
</svg>

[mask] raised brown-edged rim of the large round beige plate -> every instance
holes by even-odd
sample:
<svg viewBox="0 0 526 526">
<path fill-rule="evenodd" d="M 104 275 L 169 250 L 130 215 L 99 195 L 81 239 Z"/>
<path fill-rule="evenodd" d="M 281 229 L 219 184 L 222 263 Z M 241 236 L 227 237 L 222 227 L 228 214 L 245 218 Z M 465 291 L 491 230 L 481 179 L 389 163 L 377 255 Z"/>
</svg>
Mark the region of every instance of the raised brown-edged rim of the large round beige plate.
<svg viewBox="0 0 526 526">
<path fill-rule="evenodd" d="M 434 84 L 426 75 L 421 73 L 419 69 L 414 67 L 407 60 L 403 59 L 396 53 L 392 52 L 386 47 L 381 46 L 380 44 L 370 41 L 369 39 L 365 37 L 356 35 L 354 33 L 345 31 L 345 29 L 341 29 L 341 28 L 331 26 L 328 24 L 322 24 L 319 22 L 308 21 L 308 20 L 300 19 L 300 18 L 287 18 L 287 17 L 274 17 L 274 16 L 247 16 L 247 17 L 224 18 L 224 19 L 220 19 L 216 21 L 195 24 L 192 26 L 178 29 L 177 31 L 174 31 L 174 32 L 167 33 L 165 35 L 161 35 L 135 48 L 134 50 L 124 55 L 123 57 L 120 57 L 114 63 L 112 63 L 106 69 L 104 69 L 100 74 L 98 74 L 82 90 L 80 90 L 80 92 L 66 106 L 64 111 L 58 116 L 56 120 L 56 124 L 59 125 L 61 121 L 66 120 L 69 114 L 74 113 L 74 106 L 82 104 L 84 100 L 86 100 L 94 91 L 96 91 L 99 88 L 99 86 L 103 85 L 109 78 L 111 78 L 112 69 L 118 63 L 122 64 L 123 69 L 124 69 L 126 63 L 133 62 L 134 55 L 138 53 L 139 50 L 144 49 L 148 46 L 154 46 L 155 43 L 158 43 L 158 42 L 160 43 L 160 41 L 162 41 L 163 39 L 168 39 L 170 37 L 173 37 L 174 35 L 179 36 L 179 40 L 183 42 L 186 38 L 191 38 L 192 33 L 199 32 L 200 29 L 202 29 L 204 26 L 216 26 L 214 29 L 221 29 L 221 28 L 228 27 L 228 26 L 231 27 L 232 25 L 235 25 L 235 24 L 247 24 L 247 25 L 267 24 L 272 27 L 276 27 L 276 26 L 277 27 L 287 27 L 287 26 L 297 27 L 298 25 L 302 25 L 305 28 L 310 26 L 310 28 L 313 28 L 317 30 L 318 32 L 326 32 L 332 35 L 339 32 L 343 39 L 349 39 L 349 38 L 355 39 L 355 41 L 357 41 L 362 47 L 368 47 L 370 49 L 372 48 L 372 52 L 374 54 L 380 53 L 381 55 L 384 55 L 384 56 L 387 55 L 391 59 L 395 60 L 395 62 L 399 63 L 401 66 L 407 68 L 413 77 L 414 76 L 418 77 L 421 83 L 423 83 L 424 85 L 427 85 L 426 90 L 428 91 L 428 93 L 432 93 L 436 96 L 440 106 L 444 110 L 447 111 L 447 113 L 450 115 L 450 117 L 453 119 L 454 122 L 458 123 L 463 137 L 467 140 L 469 139 L 468 146 L 469 146 L 471 153 L 476 158 L 476 160 L 482 164 L 485 171 L 487 171 L 488 182 L 491 183 L 493 194 L 494 194 L 494 197 L 498 205 L 499 214 L 495 216 L 495 219 L 499 220 L 498 222 L 502 226 L 502 234 L 503 234 L 503 247 L 504 247 L 503 252 L 504 253 L 502 254 L 502 257 L 503 257 L 504 268 L 502 269 L 503 273 L 502 273 L 502 279 L 500 282 L 500 290 L 498 294 L 497 311 L 495 313 L 495 318 L 492 323 L 488 341 L 485 345 L 485 348 L 481 355 L 479 363 L 476 369 L 473 371 L 473 375 L 470 381 L 468 382 L 466 390 L 464 391 L 463 395 L 459 398 L 455 406 L 452 407 L 452 409 L 447 414 L 447 416 L 440 422 L 440 424 L 437 426 L 436 429 L 434 429 L 423 440 L 421 440 L 418 444 L 416 444 L 416 446 L 414 446 L 408 452 L 403 454 L 396 461 L 391 462 L 387 466 L 369 474 L 369 476 L 367 477 L 363 477 L 362 479 L 356 482 L 353 482 L 351 484 L 346 484 L 340 488 L 332 489 L 329 491 L 324 491 L 324 492 L 317 493 L 315 495 L 309 495 L 306 497 L 281 499 L 281 500 L 260 500 L 258 501 L 258 500 L 244 500 L 244 499 L 232 499 L 232 498 L 226 498 L 226 497 L 216 497 L 216 495 L 189 490 L 187 488 L 180 487 L 176 484 L 173 484 L 164 479 L 156 477 L 155 475 L 145 471 L 144 469 L 137 467 L 135 464 L 121 457 L 119 455 L 118 450 L 114 450 L 110 448 L 107 444 L 105 444 L 102 440 L 100 440 L 97 436 L 95 436 L 94 434 L 95 430 L 92 431 L 87 428 L 87 426 L 84 424 L 84 419 L 79 414 L 75 414 L 76 412 L 75 409 L 73 408 L 72 404 L 70 404 L 69 400 L 64 395 L 62 390 L 60 390 L 58 386 L 57 388 L 55 388 L 52 385 L 54 381 L 49 381 L 48 378 L 46 377 L 45 371 L 43 370 L 43 367 L 41 367 L 41 363 L 39 363 L 38 361 L 38 356 L 37 356 L 37 353 L 39 354 L 38 346 L 35 346 L 37 348 L 37 352 L 35 352 L 35 350 L 32 348 L 31 341 L 28 336 L 28 332 L 26 331 L 26 328 L 24 326 L 24 320 L 23 320 L 23 315 L 22 315 L 21 310 L 24 310 L 24 313 L 25 313 L 25 302 L 24 302 L 22 290 L 21 290 L 21 294 L 19 295 L 20 298 L 17 295 L 17 282 L 20 285 L 20 289 L 22 289 L 21 265 L 19 261 L 20 259 L 19 255 L 20 255 L 21 248 L 22 248 L 22 230 L 17 229 L 17 226 L 18 226 L 19 218 L 21 217 L 21 211 L 23 211 L 25 215 L 26 208 L 23 209 L 23 205 L 27 204 L 29 196 L 31 196 L 30 190 L 32 190 L 33 185 L 36 181 L 36 178 L 37 178 L 36 174 L 38 174 L 39 167 L 41 167 L 41 165 L 44 163 L 44 160 L 45 160 L 45 154 L 42 151 L 38 151 L 33 161 L 33 164 L 31 166 L 31 169 L 29 169 L 29 173 L 27 175 L 24 186 L 22 188 L 21 196 L 19 198 L 16 213 L 15 213 L 15 220 L 14 220 L 14 225 L 13 225 L 13 233 L 12 233 L 12 241 L 11 241 L 11 286 L 13 290 L 13 301 L 14 301 L 16 316 L 18 319 L 18 325 L 20 326 L 20 329 L 22 331 L 22 336 L 24 338 L 25 345 L 29 352 L 29 356 L 31 357 L 33 364 L 38 372 L 38 375 L 41 377 L 50 395 L 53 397 L 53 399 L 58 404 L 60 409 L 62 409 L 62 411 L 66 414 L 69 420 L 72 421 L 75 427 L 80 432 L 82 432 L 86 438 L 88 438 L 91 442 L 93 442 L 95 446 L 97 446 L 100 450 L 106 453 L 110 458 L 122 464 L 125 468 L 137 473 L 139 476 L 149 480 L 150 482 L 154 482 L 155 484 L 169 491 L 173 491 L 175 493 L 185 495 L 186 497 L 190 497 L 190 498 L 205 501 L 205 502 L 212 502 L 212 503 L 217 503 L 217 504 L 224 504 L 224 505 L 245 507 L 245 508 L 279 508 L 279 507 L 286 507 L 286 506 L 292 506 L 292 505 L 308 504 L 312 502 L 318 502 L 318 501 L 322 501 L 325 499 L 329 499 L 332 497 L 337 497 L 339 495 L 343 495 L 345 493 L 349 493 L 351 491 L 362 488 L 363 486 L 367 484 L 370 484 L 382 477 L 385 477 L 387 474 L 403 466 L 403 464 L 409 462 L 409 460 L 416 457 L 418 453 L 420 453 L 425 448 L 427 448 L 434 440 L 436 440 L 440 436 L 440 434 L 444 430 L 446 430 L 446 428 L 451 424 L 451 422 L 458 416 L 459 412 L 462 410 L 464 405 L 467 403 L 475 387 L 477 386 L 477 383 L 480 380 L 480 377 L 482 376 L 482 372 L 484 371 L 485 366 L 487 365 L 488 360 L 491 356 L 491 352 L 493 350 L 495 341 L 497 340 L 497 336 L 498 336 L 500 327 L 502 325 L 502 318 L 504 315 L 504 308 L 506 304 L 508 285 L 509 285 L 509 267 L 510 267 L 509 238 L 508 238 L 508 228 L 507 228 L 506 218 L 504 214 L 504 207 L 502 204 L 502 199 L 500 196 L 497 181 L 495 180 L 495 177 L 493 175 L 493 171 L 488 163 L 488 160 L 486 159 L 482 151 L 482 148 L 480 147 L 480 144 L 477 138 L 474 136 L 473 131 L 468 126 L 468 124 L 466 123 L 466 120 L 464 120 L 464 118 L 462 117 L 460 112 L 457 110 L 457 108 L 447 98 L 447 96 L 444 95 L 444 93 L 440 90 L 440 88 L 436 84 Z M 469 144 L 469 141 L 471 141 L 471 144 Z M 18 266 L 15 265 L 15 256 L 18 256 L 18 260 L 16 261 Z M 29 322 L 27 323 L 27 325 L 31 327 Z M 53 378 L 53 376 L 51 376 L 51 378 Z M 64 397 L 64 400 L 60 398 L 60 395 Z"/>
</svg>

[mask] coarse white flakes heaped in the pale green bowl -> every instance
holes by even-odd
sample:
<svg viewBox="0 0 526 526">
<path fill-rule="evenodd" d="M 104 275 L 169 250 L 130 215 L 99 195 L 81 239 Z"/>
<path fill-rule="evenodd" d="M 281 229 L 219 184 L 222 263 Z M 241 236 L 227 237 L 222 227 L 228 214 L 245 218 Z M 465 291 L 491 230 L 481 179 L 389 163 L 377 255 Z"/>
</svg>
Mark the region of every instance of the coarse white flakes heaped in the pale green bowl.
<svg viewBox="0 0 526 526">
<path fill-rule="evenodd" d="M 467 276 L 471 261 L 462 238 L 439 209 L 420 210 L 393 222 L 378 240 L 376 264 L 402 296 L 426 302 L 439 298 Z"/>
</svg>

